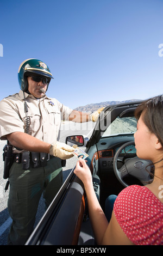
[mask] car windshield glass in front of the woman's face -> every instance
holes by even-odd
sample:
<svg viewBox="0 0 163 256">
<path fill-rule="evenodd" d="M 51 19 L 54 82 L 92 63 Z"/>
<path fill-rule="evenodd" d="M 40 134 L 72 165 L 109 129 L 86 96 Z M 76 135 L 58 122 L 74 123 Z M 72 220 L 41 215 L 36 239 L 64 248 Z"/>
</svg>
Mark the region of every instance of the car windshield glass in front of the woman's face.
<svg viewBox="0 0 163 256">
<path fill-rule="evenodd" d="M 117 117 L 103 133 L 102 137 L 120 135 L 124 133 L 135 133 L 137 120 L 135 117 Z"/>
</svg>

